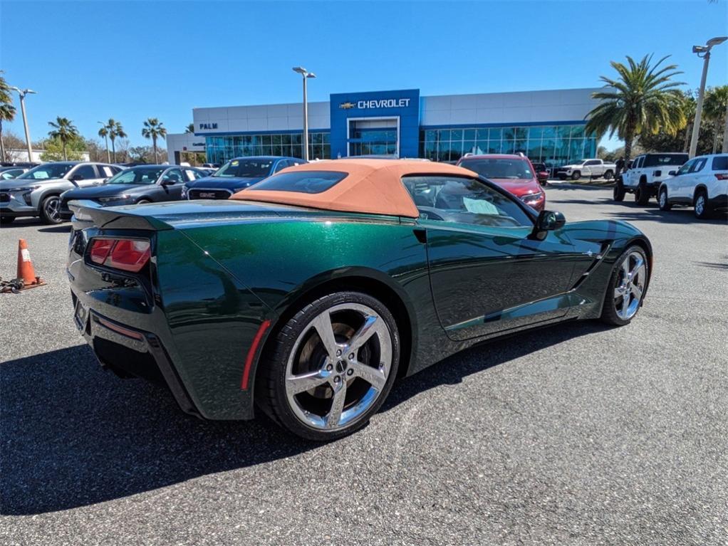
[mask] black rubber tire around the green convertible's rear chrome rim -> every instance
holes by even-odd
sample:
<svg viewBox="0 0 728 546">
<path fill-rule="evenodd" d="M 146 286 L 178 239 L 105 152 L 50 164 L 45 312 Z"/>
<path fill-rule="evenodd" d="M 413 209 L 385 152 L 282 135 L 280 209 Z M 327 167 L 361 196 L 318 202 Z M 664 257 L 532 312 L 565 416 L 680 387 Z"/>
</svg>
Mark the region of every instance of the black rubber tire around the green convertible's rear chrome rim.
<svg viewBox="0 0 728 546">
<path fill-rule="evenodd" d="M 299 336 L 310 335 L 307 334 L 307 332 L 311 330 L 311 323 L 314 318 L 318 317 L 327 309 L 332 309 L 335 306 L 345 306 L 346 304 L 367 306 L 373 309 L 373 311 L 376 312 L 376 314 L 379 314 L 379 317 L 384 320 L 384 323 L 387 325 L 387 332 L 389 333 L 389 341 L 391 341 L 392 363 L 389 367 L 389 374 L 387 375 L 384 387 L 381 389 L 381 392 L 379 392 L 379 397 L 374 400 L 371 406 L 369 406 L 363 414 L 357 416 L 356 419 L 352 419 L 352 422 L 333 430 L 325 430 L 320 427 L 314 427 L 311 424 L 306 424 L 298 416 L 296 416 L 296 411 L 292 407 L 286 393 L 285 382 L 288 360 L 289 357 L 296 359 L 296 355 L 292 355 L 293 349 L 296 346 L 296 341 Z M 334 316 L 334 314 L 331 316 Z M 381 404 L 384 403 L 384 400 L 389 394 L 389 390 L 392 388 L 392 383 L 395 381 L 395 377 L 397 376 L 397 368 L 400 358 L 400 341 L 399 333 L 397 331 L 397 323 L 395 318 L 392 316 L 392 313 L 389 312 L 389 309 L 387 309 L 381 301 L 365 293 L 349 291 L 336 292 L 318 298 L 296 312 L 296 314 L 282 325 L 277 333 L 274 332 L 273 335 L 275 337 L 271 340 L 272 343 L 269 342 L 268 346 L 266 346 L 265 353 L 261 357 L 261 363 L 258 367 L 258 373 L 256 374 L 256 403 L 258 403 L 258 406 L 264 411 L 264 413 L 271 417 L 274 422 L 289 432 L 293 432 L 293 434 L 298 435 L 301 438 L 305 438 L 306 440 L 336 440 L 337 438 L 349 435 L 364 427 L 371 416 L 375 414 L 381 407 Z M 316 334 L 313 335 L 315 336 Z M 339 334 L 337 333 L 335 335 Z M 337 343 L 339 342 L 340 341 L 337 340 Z M 367 343 L 369 343 L 369 341 L 367 341 Z M 301 342 L 301 346 L 296 351 L 296 354 L 303 350 L 301 347 L 303 347 L 303 342 Z M 361 349 L 357 350 L 363 350 L 365 347 L 366 344 L 363 345 Z M 341 358 L 343 359 L 343 357 Z M 313 357 L 310 357 L 309 360 L 314 359 Z M 359 357 L 357 357 L 357 360 L 359 360 Z M 327 360 L 325 360 L 325 362 L 327 362 Z M 341 377 L 345 377 L 343 372 Z M 357 379 L 354 379 L 354 381 L 357 381 Z M 322 387 L 325 389 L 329 388 L 326 384 L 323 384 Z M 318 388 L 319 387 L 316 387 L 316 389 Z M 347 387 L 347 389 L 352 389 L 352 387 Z M 308 396 L 308 392 L 302 392 L 301 394 Z M 313 398 L 313 400 L 320 401 L 323 399 Z M 349 407 L 355 405 L 355 401 L 356 400 L 350 401 Z M 333 407 L 333 399 L 331 404 Z"/>
</svg>

